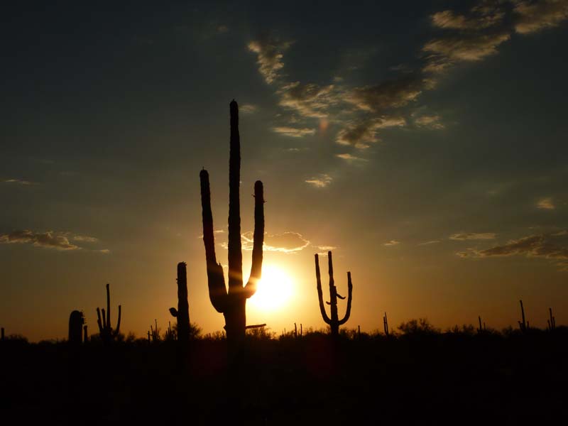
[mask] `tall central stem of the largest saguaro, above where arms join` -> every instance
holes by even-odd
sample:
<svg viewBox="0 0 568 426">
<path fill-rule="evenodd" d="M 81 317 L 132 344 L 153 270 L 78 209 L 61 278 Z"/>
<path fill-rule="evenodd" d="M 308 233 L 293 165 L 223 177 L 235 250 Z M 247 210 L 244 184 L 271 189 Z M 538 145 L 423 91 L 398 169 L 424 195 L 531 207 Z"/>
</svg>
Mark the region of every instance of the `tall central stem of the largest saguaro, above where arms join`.
<svg viewBox="0 0 568 426">
<path fill-rule="evenodd" d="M 241 138 L 239 106 L 233 99 L 229 105 L 231 138 L 229 146 L 229 295 L 243 291 L 243 254 L 241 253 Z"/>
</svg>

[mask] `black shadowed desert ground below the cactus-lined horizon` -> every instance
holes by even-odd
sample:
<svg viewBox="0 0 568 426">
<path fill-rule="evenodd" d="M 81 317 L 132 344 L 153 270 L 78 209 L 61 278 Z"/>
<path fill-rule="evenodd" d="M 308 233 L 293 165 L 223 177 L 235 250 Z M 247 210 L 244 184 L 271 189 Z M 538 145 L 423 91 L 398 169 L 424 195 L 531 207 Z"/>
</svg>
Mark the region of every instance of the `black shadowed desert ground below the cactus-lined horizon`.
<svg viewBox="0 0 568 426">
<path fill-rule="evenodd" d="M 567 425 L 568 330 L 0 342 L 3 425 Z M 7 420 L 4 422 L 4 420 Z"/>
</svg>

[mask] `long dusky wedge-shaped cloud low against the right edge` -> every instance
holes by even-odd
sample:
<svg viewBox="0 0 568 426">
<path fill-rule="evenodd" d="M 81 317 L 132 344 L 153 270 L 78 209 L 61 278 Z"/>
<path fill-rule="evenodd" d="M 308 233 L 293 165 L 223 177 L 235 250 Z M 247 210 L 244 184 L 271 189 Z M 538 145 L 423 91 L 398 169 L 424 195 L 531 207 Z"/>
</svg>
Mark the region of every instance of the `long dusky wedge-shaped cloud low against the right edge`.
<svg viewBox="0 0 568 426">
<path fill-rule="evenodd" d="M 520 239 L 509 240 L 506 244 L 494 246 L 491 247 L 491 249 L 469 249 L 469 251 L 460 252 L 457 253 L 457 255 L 462 258 L 524 255 L 527 257 L 568 261 L 567 240 L 566 234 L 559 233 L 531 235 Z"/>
</svg>

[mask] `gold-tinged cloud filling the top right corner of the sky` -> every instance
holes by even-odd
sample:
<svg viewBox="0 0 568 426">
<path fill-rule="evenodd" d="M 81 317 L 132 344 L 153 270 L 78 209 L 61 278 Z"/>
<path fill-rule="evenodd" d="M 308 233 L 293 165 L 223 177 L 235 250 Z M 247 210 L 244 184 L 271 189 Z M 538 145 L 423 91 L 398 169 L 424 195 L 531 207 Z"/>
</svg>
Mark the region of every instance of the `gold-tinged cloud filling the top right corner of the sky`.
<svg viewBox="0 0 568 426">
<path fill-rule="evenodd" d="M 522 0 L 515 3 L 515 31 L 520 34 L 552 28 L 568 18 L 568 0 Z"/>
</svg>

